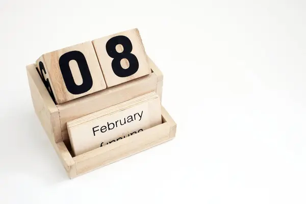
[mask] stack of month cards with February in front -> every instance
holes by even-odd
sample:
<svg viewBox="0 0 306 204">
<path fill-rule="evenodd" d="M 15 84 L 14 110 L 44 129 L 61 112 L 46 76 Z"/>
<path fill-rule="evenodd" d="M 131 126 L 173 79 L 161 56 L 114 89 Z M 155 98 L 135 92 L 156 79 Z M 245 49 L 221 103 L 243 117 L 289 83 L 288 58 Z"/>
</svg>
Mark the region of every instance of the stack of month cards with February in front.
<svg viewBox="0 0 306 204">
<path fill-rule="evenodd" d="M 155 92 L 67 122 L 74 155 L 108 145 L 161 124 L 161 104 Z"/>
</svg>

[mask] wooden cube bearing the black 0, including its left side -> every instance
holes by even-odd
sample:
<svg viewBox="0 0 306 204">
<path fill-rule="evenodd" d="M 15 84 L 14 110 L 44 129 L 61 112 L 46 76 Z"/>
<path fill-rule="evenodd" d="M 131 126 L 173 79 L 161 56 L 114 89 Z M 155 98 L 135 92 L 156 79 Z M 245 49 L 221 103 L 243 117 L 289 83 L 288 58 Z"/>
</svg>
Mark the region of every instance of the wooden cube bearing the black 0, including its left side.
<svg viewBox="0 0 306 204">
<path fill-rule="evenodd" d="M 57 104 L 106 89 L 90 41 L 46 53 L 36 61 L 36 66 L 40 78 Z"/>
</svg>

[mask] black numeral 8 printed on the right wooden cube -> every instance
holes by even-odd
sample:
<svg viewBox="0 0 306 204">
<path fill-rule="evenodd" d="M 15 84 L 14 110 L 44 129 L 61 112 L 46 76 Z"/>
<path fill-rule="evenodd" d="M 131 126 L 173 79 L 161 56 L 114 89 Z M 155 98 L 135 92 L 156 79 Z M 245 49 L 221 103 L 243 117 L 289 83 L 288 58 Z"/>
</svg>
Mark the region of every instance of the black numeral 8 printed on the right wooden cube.
<svg viewBox="0 0 306 204">
<path fill-rule="evenodd" d="M 116 45 L 118 44 L 123 46 L 122 53 L 118 53 L 116 50 Z M 129 77 L 138 70 L 139 63 L 136 56 L 131 53 L 132 49 L 133 46 L 131 40 L 122 35 L 113 37 L 106 43 L 106 52 L 111 58 L 113 58 L 112 68 L 118 77 Z M 124 69 L 121 66 L 120 61 L 122 59 L 129 61 L 129 68 Z"/>
</svg>

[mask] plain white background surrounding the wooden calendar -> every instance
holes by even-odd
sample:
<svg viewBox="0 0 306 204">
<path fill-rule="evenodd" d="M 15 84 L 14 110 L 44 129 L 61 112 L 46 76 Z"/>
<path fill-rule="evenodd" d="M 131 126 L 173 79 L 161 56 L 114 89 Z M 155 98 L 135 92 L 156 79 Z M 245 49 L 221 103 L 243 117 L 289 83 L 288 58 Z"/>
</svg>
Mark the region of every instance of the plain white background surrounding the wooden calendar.
<svg viewBox="0 0 306 204">
<path fill-rule="evenodd" d="M 0 203 L 305 203 L 306 3 L 0 1 Z M 25 65 L 138 28 L 176 138 L 69 180 Z"/>
</svg>

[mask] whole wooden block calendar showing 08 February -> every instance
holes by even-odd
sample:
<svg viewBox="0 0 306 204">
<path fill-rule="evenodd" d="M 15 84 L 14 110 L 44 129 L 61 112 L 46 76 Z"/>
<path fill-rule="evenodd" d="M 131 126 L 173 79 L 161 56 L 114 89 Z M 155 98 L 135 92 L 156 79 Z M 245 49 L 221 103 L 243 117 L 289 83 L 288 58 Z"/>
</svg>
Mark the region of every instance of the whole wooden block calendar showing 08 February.
<svg viewBox="0 0 306 204">
<path fill-rule="evenodd" d="M 66 47 L 27 66 L 35 112 L 71 178 L 175 137 L 163 74 L 137 29 Z"/>
</svg>

